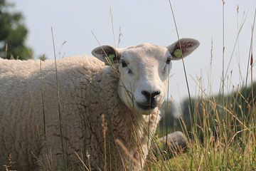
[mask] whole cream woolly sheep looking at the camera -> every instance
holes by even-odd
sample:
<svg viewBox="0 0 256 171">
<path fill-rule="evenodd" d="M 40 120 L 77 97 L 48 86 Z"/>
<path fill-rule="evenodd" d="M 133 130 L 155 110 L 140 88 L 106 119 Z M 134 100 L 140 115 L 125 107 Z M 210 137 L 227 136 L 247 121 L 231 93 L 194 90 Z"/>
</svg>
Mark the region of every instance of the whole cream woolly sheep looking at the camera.
<svg viewBox="0 0 256 171">
<path fill-rule="evenodd" d="M 99 46 L 92 50 L 95 57 L 56 63 L 0 58 L 0 166 L 141 170 L 171 61 L 198 46 L 182 38 L 166 47 Z"/>
</svg>

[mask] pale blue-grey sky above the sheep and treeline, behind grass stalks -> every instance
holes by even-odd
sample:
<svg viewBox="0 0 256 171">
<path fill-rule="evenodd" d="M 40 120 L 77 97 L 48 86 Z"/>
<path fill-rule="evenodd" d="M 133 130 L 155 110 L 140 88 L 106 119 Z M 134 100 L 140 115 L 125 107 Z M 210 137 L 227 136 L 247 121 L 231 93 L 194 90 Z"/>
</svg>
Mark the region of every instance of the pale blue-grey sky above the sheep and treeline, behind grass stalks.
<svg viewBox="0 0 256 171">
<path fill-rule="evenodd" d="M 51 27 L 53 27 L 56 51 L 59 52 L 58 58 L 91 55 L 92 49 L 98 46 L 91 31 L 95 33 L 101 44 L 114 46 L 110 9 L 116 45 L 119 28 L 121 28 L 120 47 L 122 48 L 139 43 L 169 46 L 178 39 L 168 0 L 12 0 L 12 2 L 16 4 L 15 9 L 21 11 L 25 17 L 25 24 L 29 30 L 27 44 L 33 48 L 35 58 L 42 54 L 53 58 Z M 203 90 L 206 93 L 209 92 L 210 78 L 212 84 L 210 89 L 213 93 L 217 93 L 222 74 L 223 2 L 221 0 L 172 0 L 171 3 L 180 38 L 196 38 L 201 42 L 201 46 L 184 60 L 191 95 L 194 96 L 198 92 L 196 86 L 198 78 L 202 78 Z M 239 13 L 237 13 L 238 6 Z M 237 45 L 228 69 L 229 78 L 230 71 L 232 71 L 232 77 L 231 80 L 226 80 L 228 86 L 236 87 L 241 84 L 241 78 L 245 79 L 246 76 L 256 1 L 226 0 L 224 8 L 225 71 L 238 35 L 238 23 L 241 25 L 242 19 L 246 18 L 240 32 L 239 51 Z M 253 38 L 255 40 L 255 33 Z M 212 40 L 213 58 L 210 77 Z M 64 42 L 66 43 L 62 46 Z M 254 41 L 254 54 L 255 48 Z M 253 69 L 253 79 L 256 80 L 255 61 Z M 173 62 L 171 74 L 173 76 L 169 95 L 179 102 L 188 96 L 181 61 Z M 228 87 L 226 89 L 228 91 Z"/>
</svg>

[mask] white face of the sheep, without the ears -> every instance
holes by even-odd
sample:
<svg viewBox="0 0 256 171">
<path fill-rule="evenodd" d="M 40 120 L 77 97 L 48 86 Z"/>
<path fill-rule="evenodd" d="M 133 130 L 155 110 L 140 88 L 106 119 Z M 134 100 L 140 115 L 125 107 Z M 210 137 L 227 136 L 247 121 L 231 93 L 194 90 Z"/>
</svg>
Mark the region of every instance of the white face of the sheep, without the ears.
<svg viewBox="0 0 256 171">
<path fill-rule="evenodd" d="M 167 48 L 142 44 L 124 49 L 119 60 L 119 97 L 139 113 L 151 113 L 166 95 L 171 54 Z"/>
</svg>

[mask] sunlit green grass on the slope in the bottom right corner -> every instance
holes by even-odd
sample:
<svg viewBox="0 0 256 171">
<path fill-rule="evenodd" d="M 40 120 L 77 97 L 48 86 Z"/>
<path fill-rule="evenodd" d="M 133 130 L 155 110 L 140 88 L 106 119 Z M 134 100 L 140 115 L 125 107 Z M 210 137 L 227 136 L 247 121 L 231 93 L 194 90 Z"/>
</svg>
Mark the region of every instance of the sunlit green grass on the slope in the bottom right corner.
<svg viewBox="0 0 256 171">
<path fill-rule="evenodd" d="M 191 142 L 191 150 L 167 162 L 159 162 L 145 170 L 256 170 L 255 149 L 250 145 L 245 149 L 240 145 L 204 147 Z M 190 163 L 193 157 L 192 165 Z M 167 168 L 167 169 L 166 169 Z"/>
</svg>

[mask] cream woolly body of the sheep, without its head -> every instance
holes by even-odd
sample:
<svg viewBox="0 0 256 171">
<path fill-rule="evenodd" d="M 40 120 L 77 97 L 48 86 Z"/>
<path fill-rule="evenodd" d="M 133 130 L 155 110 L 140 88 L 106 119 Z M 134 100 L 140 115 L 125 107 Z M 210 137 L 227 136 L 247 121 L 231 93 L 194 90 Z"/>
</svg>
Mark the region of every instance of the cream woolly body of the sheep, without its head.
<svg viewBox="0 0 256 171">
<path fill-rule="evenodd" d="M 63 58 L 58 60 L 57 67 L 63 148 L 68 162 L 63 157 L 60 136 L 55 62 L 43 61 L 41 72 L 39 61 L 0 59 L 0 165 L 8 165 L 6 156 L 11 154 L 18 170 L 38 170 L 40 162 L 48 166 L 47 157 L 52 157 L 53 170 L 63 169 L 65 163 L 76 168 L 82 165 L 75 155 L 77 152 L 83 158 L 85 154 L 90 155 L 92 170 L 104 170 L 106 149 L 108 170 L 110 167 L 123 170 L 124 165 L 135 170 L 134 159 L 140 165 L 138 169 L 143 166 L 148 147 L 144 125 L 149 125 L 154 133 L 159 120 L 157 109 L 151 115 L 144 115 L 143 120 L 132 113 L 118 97 L 116 73 L 97 58 Z M 106 144 L 102 120 L 107 123 Z M 47 145 L 43 143 L 44 123 Z M 129 150 L 128 154 L 114 145 L 117 139 Z M 144 156 L 139 156 L 140 147 L 144 148 Z M 112 166 L 109 153 L 112 153 Z"/>
</svg>

